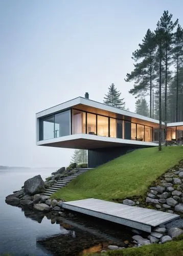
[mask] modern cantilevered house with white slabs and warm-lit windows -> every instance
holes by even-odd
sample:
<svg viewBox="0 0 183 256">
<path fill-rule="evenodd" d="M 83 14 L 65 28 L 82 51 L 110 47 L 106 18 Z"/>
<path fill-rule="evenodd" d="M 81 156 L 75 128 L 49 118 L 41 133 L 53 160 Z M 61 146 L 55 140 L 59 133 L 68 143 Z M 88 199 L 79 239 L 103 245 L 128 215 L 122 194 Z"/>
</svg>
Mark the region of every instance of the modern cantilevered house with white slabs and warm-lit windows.
<svg viewBox="0 0 183 256">
<path fill-rule="evenodd" d="M 158 123 L 86 93 L 36 114 L 36 144 L 88 150 L 88 167 L 96 167 L 135 148 L 157 146 Z M 183 122 L 167 126 L 168 140 L 183 137 Z"/>
</svg>

